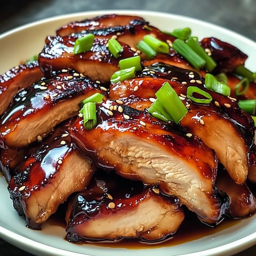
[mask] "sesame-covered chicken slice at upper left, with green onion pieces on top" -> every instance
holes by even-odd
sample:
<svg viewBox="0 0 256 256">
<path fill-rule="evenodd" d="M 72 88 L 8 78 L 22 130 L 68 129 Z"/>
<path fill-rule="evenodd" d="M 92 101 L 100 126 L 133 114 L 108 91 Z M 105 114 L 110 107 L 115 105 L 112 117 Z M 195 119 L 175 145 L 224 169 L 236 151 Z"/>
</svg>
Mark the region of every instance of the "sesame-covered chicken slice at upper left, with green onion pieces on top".
<svg viewBox="0 0 256 256">
<path fill-rule="evenodd" d="M 108 38 L 95 38 L 90 51 L 73 54 L 78 37 L 47 37 L 44 49 L 38 57 L 39 66 L 46 76 L 49 76 L 53 70 L 71 68 L 93 81 L 105 83 L 109 82 L 111 75 L 118 70 L 120 59 L 135 54 L 128 45 L 122 44 L 124 51 L 118 59 L 115 59 L 106 46 Z"/>
</svg>

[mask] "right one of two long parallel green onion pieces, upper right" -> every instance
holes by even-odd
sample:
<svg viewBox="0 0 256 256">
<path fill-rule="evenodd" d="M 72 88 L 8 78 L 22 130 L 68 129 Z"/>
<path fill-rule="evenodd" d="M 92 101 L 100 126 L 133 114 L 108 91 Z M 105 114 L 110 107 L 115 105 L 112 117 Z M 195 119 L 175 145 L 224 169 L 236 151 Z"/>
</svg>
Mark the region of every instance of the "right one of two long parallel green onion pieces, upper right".
<svg viewBox="0 0 256 256">
<path fill-rule="evenodd" d="M 202 59 L 205 60 L 205 69 L 211 72 L 216 66 L 217 63 L 209 56 L 203 47 L 196 41 L 193 37 L 190 37 L 186 44 L 195 52 L 197 53 Z"/>
</svg>

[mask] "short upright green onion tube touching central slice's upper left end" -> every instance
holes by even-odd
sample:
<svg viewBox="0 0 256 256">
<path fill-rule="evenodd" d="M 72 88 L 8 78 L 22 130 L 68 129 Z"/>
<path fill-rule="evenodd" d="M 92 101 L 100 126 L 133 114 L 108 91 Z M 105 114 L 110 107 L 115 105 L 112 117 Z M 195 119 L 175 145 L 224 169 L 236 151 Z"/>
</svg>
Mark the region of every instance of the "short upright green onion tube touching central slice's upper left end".
<svg viewBox="0 0 256 256">
<path fill-rule="evenodd" d="M 97 124 L 96 104 L 94 102 L 86 102 L 83 106 L 84 128 L 91 130 Z"/>
</svg>

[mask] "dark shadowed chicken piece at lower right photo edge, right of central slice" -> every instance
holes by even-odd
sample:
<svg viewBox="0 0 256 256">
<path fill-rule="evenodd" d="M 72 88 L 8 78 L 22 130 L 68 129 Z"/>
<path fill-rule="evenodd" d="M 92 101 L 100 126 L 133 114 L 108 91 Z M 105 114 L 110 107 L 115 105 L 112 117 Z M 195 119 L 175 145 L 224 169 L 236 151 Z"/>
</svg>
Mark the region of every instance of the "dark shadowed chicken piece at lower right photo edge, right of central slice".
<svg viewBox="0 0 256 256">
<path fill-rule="evenodd" d="M 255 213 L 256 199 L 246 185 L 235 183 L 228 175 L 223 166 L 218 166 L 216 187 L 227 193 L 230 205 L 226 214 L 233 219 L 245 218 Z"/>
</svg>

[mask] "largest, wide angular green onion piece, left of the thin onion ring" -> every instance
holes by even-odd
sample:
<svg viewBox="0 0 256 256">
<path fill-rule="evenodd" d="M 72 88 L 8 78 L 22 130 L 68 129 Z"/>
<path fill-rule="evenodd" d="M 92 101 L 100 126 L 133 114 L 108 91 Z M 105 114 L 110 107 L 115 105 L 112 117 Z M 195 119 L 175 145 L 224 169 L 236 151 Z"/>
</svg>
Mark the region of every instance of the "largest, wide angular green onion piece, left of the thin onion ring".
<svg viewBox="0 0 256 256">
<path fill-rule="evenodd" d="M 163 121 L 174 121 L 178 124 L 188 110 L 172 86 L 165 82 L 155 94 L 157 99 L 149 107 L 149 113 L 155 115 L 155 117 L 158 116 Z"/>
</svg>

